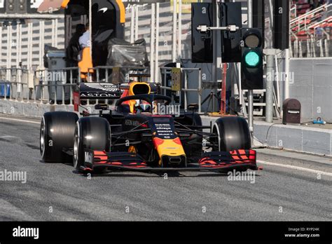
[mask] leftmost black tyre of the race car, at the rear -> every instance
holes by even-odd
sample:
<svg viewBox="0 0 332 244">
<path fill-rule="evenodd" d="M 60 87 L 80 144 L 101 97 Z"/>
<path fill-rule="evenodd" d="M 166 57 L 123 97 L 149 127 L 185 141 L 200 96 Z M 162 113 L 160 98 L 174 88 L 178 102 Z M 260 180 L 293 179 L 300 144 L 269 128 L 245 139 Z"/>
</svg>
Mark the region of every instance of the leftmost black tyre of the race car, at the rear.
<svg viewBox="0 0 332 244">
<path fill-rule="evenodd" d="M 46 163 L 67 163 L 71 157 L 62 150 L 73 146 L 78 115 L 66 111 L 48 112 L 41 119 L 40 151 Z"/>
</svg>

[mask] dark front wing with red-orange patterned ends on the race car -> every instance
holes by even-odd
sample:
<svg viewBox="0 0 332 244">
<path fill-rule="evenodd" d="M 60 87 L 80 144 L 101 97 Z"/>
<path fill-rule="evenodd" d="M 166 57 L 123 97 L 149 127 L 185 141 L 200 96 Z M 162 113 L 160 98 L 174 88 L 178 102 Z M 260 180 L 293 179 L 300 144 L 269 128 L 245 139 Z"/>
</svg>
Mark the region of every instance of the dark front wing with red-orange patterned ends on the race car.
<svg viewBox="0 0 332 244">
<path fill-rule="evenodd" d="M 197 163 L 188 163 L 181 168 L 162 168 L 149 166 L 139 154 L 126 151 L 106 152 L 85 150 L 85 161 L 82 170 L 93 170 L 94 168 L 113 168 L 118 170 L 133 171 L 229 171 L 233 169 L 258 170 L 256 165 L 256 151 L 234 150 L 234 151 L 212 151 L 206 152 Z"/>
</svg>

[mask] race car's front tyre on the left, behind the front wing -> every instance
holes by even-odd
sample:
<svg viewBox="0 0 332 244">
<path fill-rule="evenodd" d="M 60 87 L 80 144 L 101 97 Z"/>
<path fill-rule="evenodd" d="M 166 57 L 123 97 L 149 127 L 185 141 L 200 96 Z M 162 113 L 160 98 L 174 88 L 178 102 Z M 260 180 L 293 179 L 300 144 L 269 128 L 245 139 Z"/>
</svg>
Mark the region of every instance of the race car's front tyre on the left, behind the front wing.
<svg viewBox="0 0 332 244">
<path fill-rule="evenodd" d="M 80 118 L 76 123 L 74 133 L 73 161 L 74 168 L 83 172 L 84 149 L 97 151 L 110 151 L 111 130 L 109 121 L 100 117 Z M 93 170 L 95 173 L 102 173 L 105 168 Z"/>
</svg>

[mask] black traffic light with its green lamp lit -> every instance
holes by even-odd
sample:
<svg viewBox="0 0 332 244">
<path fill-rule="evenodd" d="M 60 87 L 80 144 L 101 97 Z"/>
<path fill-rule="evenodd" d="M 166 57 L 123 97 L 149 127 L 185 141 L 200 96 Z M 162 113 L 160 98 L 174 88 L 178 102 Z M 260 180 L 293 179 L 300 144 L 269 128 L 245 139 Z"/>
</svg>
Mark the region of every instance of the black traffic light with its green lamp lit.
<svg viewBox="0 0 332 244">
<path fill-rule="evenodd" d="M 263 36 L 261 29 L 242 29 L 242 89 L 263 89 Z"/>
</svg>

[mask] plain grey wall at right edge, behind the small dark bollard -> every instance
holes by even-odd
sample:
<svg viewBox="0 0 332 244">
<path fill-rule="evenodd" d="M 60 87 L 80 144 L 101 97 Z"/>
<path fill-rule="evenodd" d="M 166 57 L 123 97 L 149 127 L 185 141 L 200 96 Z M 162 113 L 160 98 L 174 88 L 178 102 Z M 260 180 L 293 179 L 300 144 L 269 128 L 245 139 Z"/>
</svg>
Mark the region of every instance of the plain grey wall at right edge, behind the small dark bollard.
<svg viewBox="0 0 332 244">
<path fill-rule="evenodd" d="M 332 122 L 332 58 L 292 58 L 289 95 L 302 104 L 303 118 Z"/>
</svg>

